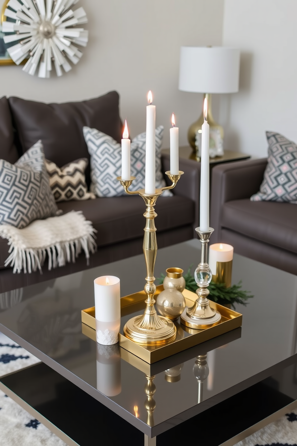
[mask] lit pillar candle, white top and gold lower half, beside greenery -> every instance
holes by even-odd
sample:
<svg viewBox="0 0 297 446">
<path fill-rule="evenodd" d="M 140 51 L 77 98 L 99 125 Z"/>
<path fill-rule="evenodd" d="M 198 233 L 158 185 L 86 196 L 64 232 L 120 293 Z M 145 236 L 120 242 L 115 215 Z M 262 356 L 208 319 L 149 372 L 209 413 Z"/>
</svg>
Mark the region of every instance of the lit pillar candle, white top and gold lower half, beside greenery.
<svg viewBox="0 0 297 446">
<path fill-rule="evenodd" d="M 215 243 L 209 247 L 208 265 L 212 272 L 212 280 L 231 286 L 233 246 L 226 243 Z"/>
</svg>

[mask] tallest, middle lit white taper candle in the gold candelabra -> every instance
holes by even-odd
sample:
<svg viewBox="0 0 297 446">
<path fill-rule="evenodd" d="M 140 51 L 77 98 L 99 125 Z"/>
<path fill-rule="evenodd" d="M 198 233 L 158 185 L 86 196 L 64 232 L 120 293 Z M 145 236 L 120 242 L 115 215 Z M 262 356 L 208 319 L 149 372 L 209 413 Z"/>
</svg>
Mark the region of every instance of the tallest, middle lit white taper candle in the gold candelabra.
<svg viewBox="0 0 297 446">
<path fill-rule="evenodd" d="M 146 179 L 145 193 L 156 192 L 156 107 L 151 105 L 153 98 L 151 90 L 148 92 L 146 106 Z"/>
</svg>

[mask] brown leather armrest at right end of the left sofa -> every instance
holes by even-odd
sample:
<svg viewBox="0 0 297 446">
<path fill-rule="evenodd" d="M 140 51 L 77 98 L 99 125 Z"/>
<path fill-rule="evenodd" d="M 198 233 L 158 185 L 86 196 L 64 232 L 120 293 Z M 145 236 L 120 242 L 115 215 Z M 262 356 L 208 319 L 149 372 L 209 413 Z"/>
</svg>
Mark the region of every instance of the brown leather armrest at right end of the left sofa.
<svg viewBox="0 0 297 446">
<path fill-rule="evenodd" d="M 169 180 L 167 175 L 165 175 L 165 172 L 167 170 L 170 170 L 169 154 L 163 153 L 161 156 L 161 162 L 162 172 L 166 184 L 167 186 L 170 186 L 171 181 Z M 172 190 L 173 194 L 175 195 L 191 198 L 191 200 L 193 200 L 195 204 L 194 228 L 199 226 L 200 169 L 200 163 L 184 158 L 179 158 L 179 170 L 182 170 L 184 174 L 180 177 L 177 185 Z M 195 232 L 194 234 L 196 235 Z"/>
</svg>

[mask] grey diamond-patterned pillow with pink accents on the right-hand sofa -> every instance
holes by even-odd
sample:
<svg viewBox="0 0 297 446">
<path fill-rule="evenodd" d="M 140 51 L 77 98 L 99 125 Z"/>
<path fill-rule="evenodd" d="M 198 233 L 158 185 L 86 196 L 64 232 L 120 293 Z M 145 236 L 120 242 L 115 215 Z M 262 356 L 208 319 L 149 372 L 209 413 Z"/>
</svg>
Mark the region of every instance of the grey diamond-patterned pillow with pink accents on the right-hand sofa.
<svg viewBox="0 0 297 446">
<path fill-rule="evenodd" d="M 297 204 L 297 145 L 276 132 L 266 132 L 268 164 L 260 192 L 251 201 Z"/>
</svg>

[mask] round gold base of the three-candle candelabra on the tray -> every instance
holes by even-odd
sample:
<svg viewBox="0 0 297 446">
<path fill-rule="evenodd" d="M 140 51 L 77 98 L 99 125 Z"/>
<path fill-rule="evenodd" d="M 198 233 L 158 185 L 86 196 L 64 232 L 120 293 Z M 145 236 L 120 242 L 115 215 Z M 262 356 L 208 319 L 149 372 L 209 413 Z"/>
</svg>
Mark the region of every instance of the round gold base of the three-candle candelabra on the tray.
<svg viewBox="0 0 297 446">
<path fill-rule="evenodd" d="M 124 326 L 124 334 L 131 341 L 142 345 L 159 345 L 175 339 L 176 327 L 169 319 L 158 316 L 159 327 L 148 330 L 139 326 L 142 318 L 142 315 L 135 316 Z"/>
</svg>

